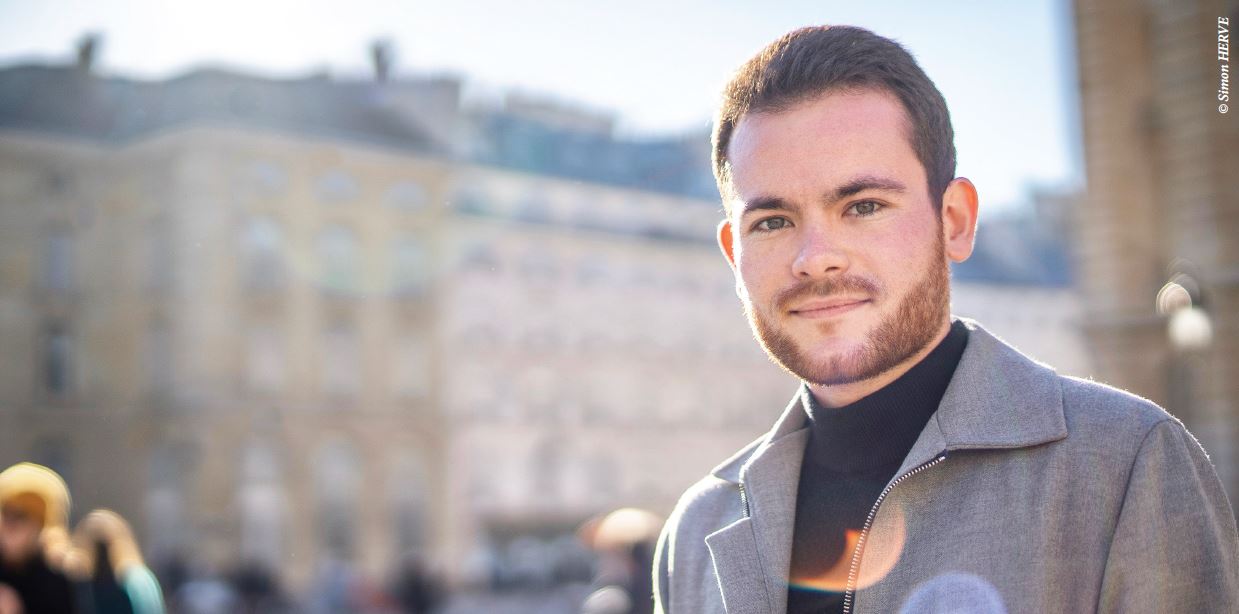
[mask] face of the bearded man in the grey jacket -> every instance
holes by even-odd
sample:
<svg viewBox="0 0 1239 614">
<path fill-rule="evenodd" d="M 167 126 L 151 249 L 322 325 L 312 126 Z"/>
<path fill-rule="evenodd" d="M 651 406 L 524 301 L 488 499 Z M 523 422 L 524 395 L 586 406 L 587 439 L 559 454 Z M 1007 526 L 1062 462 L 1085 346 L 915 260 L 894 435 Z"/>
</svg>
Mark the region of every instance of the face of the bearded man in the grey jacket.
<svg viewBox="0 0 1239 614">
<path fill-rule="evenodd" d="M 906 125 L 895 97 L 864 90 L 747 114 L 732 134 L 720 241 L 766 352 L 810 384 L 881 375 L 949 316 L 942 218 Z"/>
</svg>

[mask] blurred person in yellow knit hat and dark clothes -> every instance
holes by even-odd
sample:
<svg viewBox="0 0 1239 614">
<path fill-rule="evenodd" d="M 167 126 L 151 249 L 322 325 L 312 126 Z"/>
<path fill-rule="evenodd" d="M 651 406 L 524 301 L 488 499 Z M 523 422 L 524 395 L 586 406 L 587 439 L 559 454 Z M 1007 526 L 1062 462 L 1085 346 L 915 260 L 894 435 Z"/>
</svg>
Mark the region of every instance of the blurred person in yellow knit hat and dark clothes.
<svg viewBox="0 0 1239 614">
<path fill-rule="evenodd" d="M 68 514 L 69 490 L 56 472 L 17 463 L 0 473 L 0 586 L 12 589 L 21 612 L 77 612 L 73 587 L 59 567 Z"/>
</svg>

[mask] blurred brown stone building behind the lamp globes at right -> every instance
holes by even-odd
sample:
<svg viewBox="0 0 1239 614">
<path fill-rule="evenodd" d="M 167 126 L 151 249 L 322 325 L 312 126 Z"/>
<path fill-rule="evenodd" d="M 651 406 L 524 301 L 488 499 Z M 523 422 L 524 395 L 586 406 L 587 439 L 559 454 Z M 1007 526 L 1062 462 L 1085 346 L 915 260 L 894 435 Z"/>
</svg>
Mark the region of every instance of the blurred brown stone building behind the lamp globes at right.
<svg viewBox="0 0 1239 614">
<path fill-rule="evenodd" d="M 1233 104 L 1218 111 L 1217 21 L 1233 28 L 1239 4 L 1075 0 L 1074 16 L 1077 270 L 1097 375 L 1180 416 L 1235 501 L 1239 121 Z"/>
</svg>

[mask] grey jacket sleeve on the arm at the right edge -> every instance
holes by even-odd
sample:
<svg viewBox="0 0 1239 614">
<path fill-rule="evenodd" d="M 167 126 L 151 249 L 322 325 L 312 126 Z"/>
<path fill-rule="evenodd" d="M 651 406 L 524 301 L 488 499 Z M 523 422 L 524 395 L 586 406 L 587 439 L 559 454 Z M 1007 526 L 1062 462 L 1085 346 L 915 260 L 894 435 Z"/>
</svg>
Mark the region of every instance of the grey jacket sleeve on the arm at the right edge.
<svg viewBox="0 0 1239 614">
<path fill-rule="evenodd" d="M 1098 612 L 1239 612 L 1234 512 L 1177 420 L 1150 428 L 1136 452 Z"/>
</svg>

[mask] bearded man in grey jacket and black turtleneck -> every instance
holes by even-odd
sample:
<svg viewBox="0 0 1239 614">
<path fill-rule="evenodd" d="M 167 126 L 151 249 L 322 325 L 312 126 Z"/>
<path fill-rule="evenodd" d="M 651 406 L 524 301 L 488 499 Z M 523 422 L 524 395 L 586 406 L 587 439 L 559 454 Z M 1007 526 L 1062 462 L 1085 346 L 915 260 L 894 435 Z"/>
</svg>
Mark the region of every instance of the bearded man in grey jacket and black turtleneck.
<svg viewBox="0 0 1239 614">
<path fill-rule="evenodd" d="M 978 196 L 907 51 L 790 32 L 729 83 L 714 147 L 719 244 L 802 385 L 680 499 L 660 612 L 1239 612 L 1234 515 L 1183 425 L 952 318 Z"/>
</svg>

